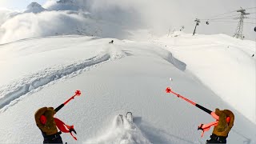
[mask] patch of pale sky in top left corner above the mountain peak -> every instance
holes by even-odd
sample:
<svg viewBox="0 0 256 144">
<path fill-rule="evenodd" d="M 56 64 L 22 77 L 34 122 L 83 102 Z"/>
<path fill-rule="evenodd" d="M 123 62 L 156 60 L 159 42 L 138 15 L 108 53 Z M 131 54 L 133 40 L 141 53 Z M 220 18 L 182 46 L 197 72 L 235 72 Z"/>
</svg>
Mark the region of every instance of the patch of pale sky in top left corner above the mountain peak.
<svg viewBox="0 0 256 144">
<path fill-rule="evenodd" d="M 24 10 L 30 2 L 38 2 L 44 4 L 46 0 L 0 0 L 0 7 L 12 10 Z"/>
</svg>

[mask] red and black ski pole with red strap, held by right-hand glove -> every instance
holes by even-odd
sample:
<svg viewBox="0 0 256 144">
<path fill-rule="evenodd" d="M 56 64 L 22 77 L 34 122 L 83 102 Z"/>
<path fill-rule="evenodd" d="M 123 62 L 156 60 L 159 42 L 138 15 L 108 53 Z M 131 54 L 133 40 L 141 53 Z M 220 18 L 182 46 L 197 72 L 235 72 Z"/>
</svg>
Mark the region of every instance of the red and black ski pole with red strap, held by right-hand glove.
<svg viewBox="0 0 256 144">
<path fill-rule="evenodd" d="M 217 126 L 218 125 L 218 118 L 219 117 L 213 111 L 208 110 L 204 106 L 198 105 L 197 103 L 190 101 L 190 99 L 187 99 L 187 98 L 183 97 L 182 95 L 175 93 L 173 90 L 170 89 L 170 87 L 166 88 L 166 93 L 172 93 L 172 94 L 176 95 L 178 98 L 182 98 L 186 102 L 190 102 L 192 105 L 197 106 L 199 109 L 205 111 L 206 113 L 210 114 L 213 118 L 216 119 L 216 122 L 211 122 L 210 124 L 206 124 L 206 125 L 201 124 L 200 126 L 198 126 L 198 130 L 202 130 L 203 131 L 202 135 L 203 135 L 203 133 L 205 131 L 210 130 L 210 126 Z M 226 122 L 230 122 L 230 117 L 226 118 Z"/>
</svg>

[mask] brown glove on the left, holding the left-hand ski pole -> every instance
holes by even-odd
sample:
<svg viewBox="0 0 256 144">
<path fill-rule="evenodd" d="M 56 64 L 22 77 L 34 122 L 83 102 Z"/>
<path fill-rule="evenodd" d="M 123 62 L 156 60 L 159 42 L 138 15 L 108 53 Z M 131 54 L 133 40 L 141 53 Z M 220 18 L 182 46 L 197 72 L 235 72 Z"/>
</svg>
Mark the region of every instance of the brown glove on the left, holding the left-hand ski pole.
<svg viewBox="0 0 256 144">
<path fill-rule="evenodd" d="M 54 122 L 54 114 L 56 114 L 56 111 L 53 107 L 42 107 L 34 114 L 38 128 L 42 130 L 42 132 L 46 133 L 46 135 L 56 134 L 58 132 L 56 123 Z M 40 121 L 42 115 L 46 116 L 45 124 L 42 124 Z"/>
</svg>

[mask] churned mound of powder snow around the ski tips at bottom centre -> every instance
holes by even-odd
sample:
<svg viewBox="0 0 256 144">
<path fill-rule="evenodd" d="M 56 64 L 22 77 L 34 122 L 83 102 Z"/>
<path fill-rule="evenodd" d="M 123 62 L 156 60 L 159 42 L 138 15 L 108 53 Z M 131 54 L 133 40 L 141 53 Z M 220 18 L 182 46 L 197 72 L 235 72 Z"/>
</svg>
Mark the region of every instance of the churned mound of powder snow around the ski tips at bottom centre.
<svg viewBox="0 0 256 144">
<path fill-rule="evenodd" d="M 113 143 L 113 144 L 135 144 L 135 143 L 151 143 L 145 138 L 142 131 L 139 130 L 135 123 L 127 121 L 123 117 L 123 124 L 120 122 L 119 116 L 115 116 L 112 126 L 97 138 L 91 138 L 84 143 Z"/>
</svg>

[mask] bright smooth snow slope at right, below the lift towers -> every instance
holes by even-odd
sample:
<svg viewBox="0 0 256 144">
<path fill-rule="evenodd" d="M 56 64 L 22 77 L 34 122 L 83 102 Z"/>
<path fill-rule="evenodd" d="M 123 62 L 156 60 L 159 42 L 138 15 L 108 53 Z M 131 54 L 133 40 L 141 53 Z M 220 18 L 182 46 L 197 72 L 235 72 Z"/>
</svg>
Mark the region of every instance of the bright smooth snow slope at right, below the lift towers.
<svg viewBox="0 0 256 144">
<path fill-rule="evenodd" d="M 256 123 L 256 43 L 224 34 L 174 33 L 155 42 L 185 62 L 215 94 Z M 202 62 L 203 61 L 203 62 Z"/>
</svg>

